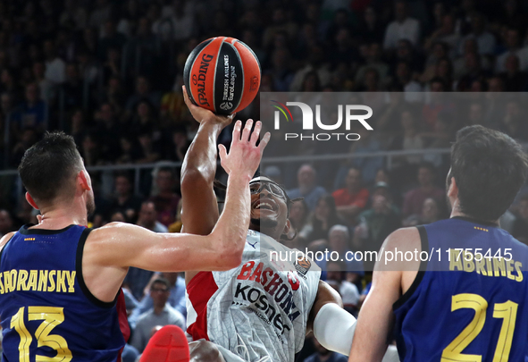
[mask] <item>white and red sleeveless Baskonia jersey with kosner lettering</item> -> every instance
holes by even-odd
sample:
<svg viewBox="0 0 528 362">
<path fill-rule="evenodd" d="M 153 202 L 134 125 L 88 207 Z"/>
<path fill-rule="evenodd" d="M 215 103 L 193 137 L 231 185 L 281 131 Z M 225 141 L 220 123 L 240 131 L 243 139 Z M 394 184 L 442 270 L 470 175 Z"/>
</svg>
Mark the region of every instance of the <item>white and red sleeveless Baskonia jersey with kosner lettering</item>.
<svg viewBox="0 0 528 362">
<path fill-rule="evenodd" d="M 266 356 L 293 362 L 305 341 L 321 269 L 300 252 L 278 260 L 292 251 L 250 230 L 239 267 L 197 274 L 187 287 L 193 340 L 205 338 L 247 359 L 238 349 L 243 344 L 251 362 Z"/>
</svg>

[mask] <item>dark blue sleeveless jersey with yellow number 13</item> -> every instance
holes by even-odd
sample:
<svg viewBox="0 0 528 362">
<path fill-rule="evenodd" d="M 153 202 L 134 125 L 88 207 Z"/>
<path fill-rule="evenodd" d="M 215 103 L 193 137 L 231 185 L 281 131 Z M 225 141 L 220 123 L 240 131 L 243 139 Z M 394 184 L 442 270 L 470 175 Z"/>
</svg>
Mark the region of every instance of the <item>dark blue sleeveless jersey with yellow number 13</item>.
<svg viewBox="0 0 528 362">
<path fill-rule="evenodd" d="M 125 344 L 116 300 L 96 299 L 82 276 L 90 229 L 22 226 L 0 255 L 2 361 L 115 362 Z"/>
</svg>

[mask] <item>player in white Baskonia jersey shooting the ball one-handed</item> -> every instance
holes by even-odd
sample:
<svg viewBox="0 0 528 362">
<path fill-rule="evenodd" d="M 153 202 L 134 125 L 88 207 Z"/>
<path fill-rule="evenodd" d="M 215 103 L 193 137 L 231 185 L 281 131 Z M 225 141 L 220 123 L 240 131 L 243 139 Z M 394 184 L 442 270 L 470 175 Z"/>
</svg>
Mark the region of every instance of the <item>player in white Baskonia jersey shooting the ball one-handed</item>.
<svg viewBox="0 0 528 362">
<path fill-rule="evenodd" d="M 184 97 L 200 127 L 181 170 L 183 231 L 208 234 L 219 217 L 216 139 L 232 117 L 216 116 Z M 248 120 L 246 127 L 252 125 Z M 200 340 L 189 345 L 191 361 L 293 362 L 312 331 L 324 347 L 348 355 L 356 319 L 319 280 L 319 268 L 302 256 L 293 263 L 270 258 L 272 250 L 290 250 L 277 241 L 290 227 L 286 192 L 267 178 L 250 181 L 250 189 L 250 230 L 239 267 L 186 273 L 188 333 Z"/>
</svg>

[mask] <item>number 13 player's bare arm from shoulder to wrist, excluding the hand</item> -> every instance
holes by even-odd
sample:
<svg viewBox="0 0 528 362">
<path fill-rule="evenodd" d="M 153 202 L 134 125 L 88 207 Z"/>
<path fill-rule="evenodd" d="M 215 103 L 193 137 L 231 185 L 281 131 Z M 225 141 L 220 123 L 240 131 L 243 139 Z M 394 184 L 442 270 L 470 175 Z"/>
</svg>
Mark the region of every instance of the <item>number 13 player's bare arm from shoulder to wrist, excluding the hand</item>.
<svg viewBox="0 0 528 362">
<path fill-rule="evenodd" d="M 248 182 L 249 176 L 230 177 L 224 212 L 209 235 L 155 233 L 130 223 L 109 223 L 91 232 L 82 259 L 88 290 L 112 301 L 129 266 L 182 272 L 239 265 L 249 223 Z"/>
</svg>

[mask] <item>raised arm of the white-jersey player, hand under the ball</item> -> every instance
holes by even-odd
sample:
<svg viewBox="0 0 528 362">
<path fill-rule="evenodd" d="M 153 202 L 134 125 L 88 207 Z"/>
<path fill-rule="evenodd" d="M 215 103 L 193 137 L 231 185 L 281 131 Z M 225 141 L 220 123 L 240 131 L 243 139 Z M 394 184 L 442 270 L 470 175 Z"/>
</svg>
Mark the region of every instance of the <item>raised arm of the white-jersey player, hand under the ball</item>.
<svg viewBox="0 0 528 362">
<path fill-rule="evenodd" d="M 213 231 L 219 216 L 213 189 L 218 156 L 216 139 L 232 122 L 234 114 L 216 115 L 193 105 L 185 87 L 183 99 L 200 127 L 181 166 L 182 232 L 207 235 Z"/>
</svg>

